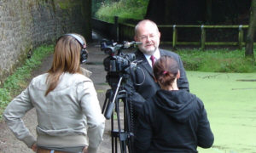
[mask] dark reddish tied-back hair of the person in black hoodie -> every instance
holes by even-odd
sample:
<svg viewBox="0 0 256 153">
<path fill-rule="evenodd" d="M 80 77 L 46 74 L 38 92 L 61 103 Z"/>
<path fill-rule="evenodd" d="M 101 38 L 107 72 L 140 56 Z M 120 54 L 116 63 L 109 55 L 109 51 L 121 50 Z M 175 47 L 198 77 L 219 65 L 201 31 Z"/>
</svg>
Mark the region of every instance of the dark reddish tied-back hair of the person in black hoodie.
<svg viewBox="0 0 256 153">
<path fill-rule="evenodd" d="M 170 56 L 161 56 L 154 63 L 153 70 L 156 81 L 163 86 L 172 86 L 178 73 L 177 61 Z"/>
</svg>

